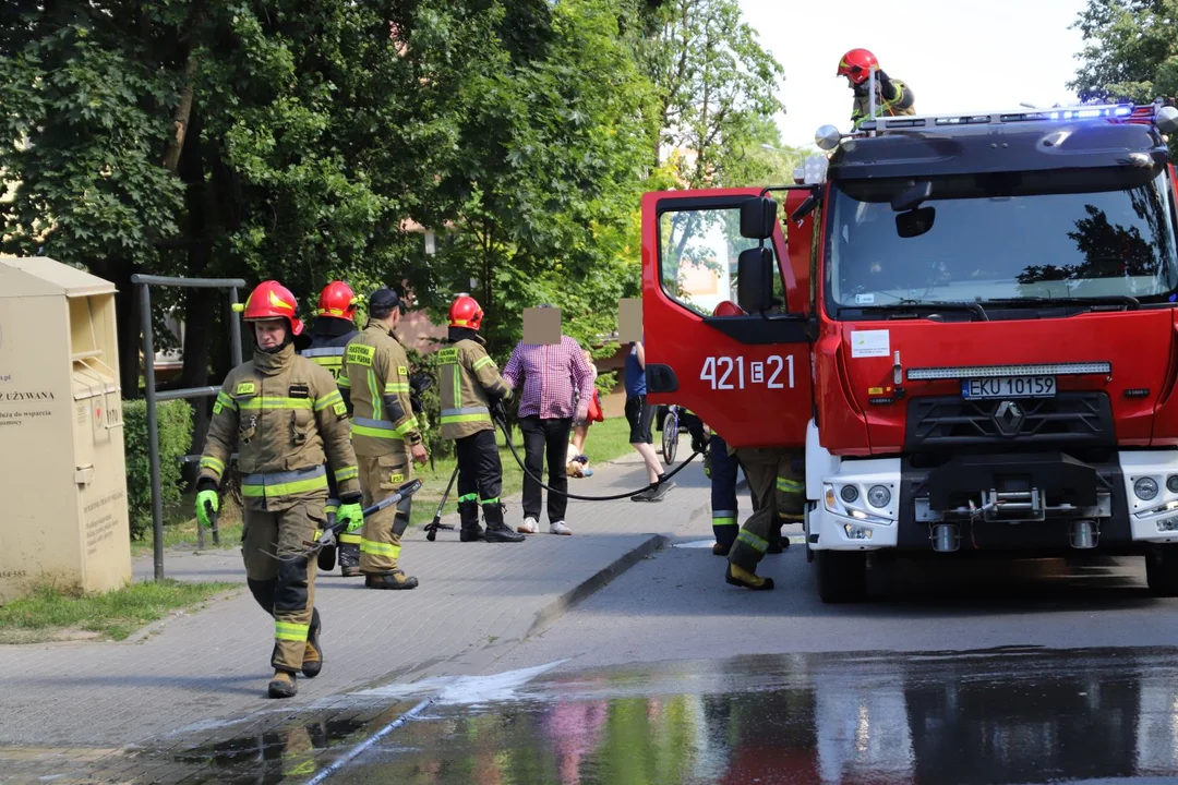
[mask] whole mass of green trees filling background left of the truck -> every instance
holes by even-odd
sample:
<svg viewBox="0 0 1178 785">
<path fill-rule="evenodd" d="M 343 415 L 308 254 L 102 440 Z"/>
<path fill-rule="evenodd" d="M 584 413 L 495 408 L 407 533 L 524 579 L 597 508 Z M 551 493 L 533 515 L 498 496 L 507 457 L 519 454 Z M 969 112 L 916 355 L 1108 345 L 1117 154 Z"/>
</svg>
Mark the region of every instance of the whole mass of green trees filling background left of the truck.
<svg viewBox="0 0 1178 785">
<path fill-rule="evenodd" d="M 735 0 L 4 6 L 0 169 L 20 185 L 0 246 L 123 290 L 135 270 L 278 278 L 306 317 L 333 278 L 435 315 L 470 291 L 502 361 L 541 301 L 585 345 L 616 327 L 644 191 L 789 174 L 760 147 L 781 68 Z M 699 155 L 660 166 L 661 142 Z M 225 368 L 207 297 L 153 301 L 183 310 L 186 384 Z"/>
</svg>

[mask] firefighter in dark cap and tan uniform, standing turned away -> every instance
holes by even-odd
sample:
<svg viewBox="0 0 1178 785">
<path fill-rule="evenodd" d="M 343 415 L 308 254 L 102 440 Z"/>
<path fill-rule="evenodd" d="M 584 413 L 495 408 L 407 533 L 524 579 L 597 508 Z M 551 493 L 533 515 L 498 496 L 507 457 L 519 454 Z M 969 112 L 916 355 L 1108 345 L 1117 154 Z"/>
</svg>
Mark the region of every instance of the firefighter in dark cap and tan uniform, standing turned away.
<svg viewBox="0 0 1178 785">
<path fill-rule="evenodd" d="M 364 504 L 371 506 L 412 478 L 412 461 L 429 460 L 409 398 L 409 358 L 397 339 L 404 305 L 390 288 L 368 301 L 364 332 L 348 342 L 344 373 L 352 388 L 352 441 L 360 466 Z M 397 567 L 401 535 L 409 526 L 412 498 L 364 520 L 360 572 L 369 588 L 413 588 L 417 578 Z"/>
</svg>

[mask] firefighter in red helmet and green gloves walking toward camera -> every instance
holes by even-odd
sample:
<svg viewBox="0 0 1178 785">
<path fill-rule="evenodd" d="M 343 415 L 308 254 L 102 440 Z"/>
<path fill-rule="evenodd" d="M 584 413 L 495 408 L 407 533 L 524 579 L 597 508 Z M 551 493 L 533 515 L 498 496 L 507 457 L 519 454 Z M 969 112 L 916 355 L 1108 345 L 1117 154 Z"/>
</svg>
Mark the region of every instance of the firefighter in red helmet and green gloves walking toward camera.
<svg viewBox="0 0 1178 785">
<path fill-rule="evenodd" d="M 289 698 L 299 670 L 312 678 L 323 667 L 316 565 L 298 554 L 325 528 L 327 472 L 339 487 L 338 517 L 352 531 L 363 521 L 360 491 L 343 397 L 330 373 L 294 352 L 292 340 L 303 332 L 294 295 L 278 281 L 259 284 L 245 301 L 245 321 L 253 326 L 253 359 L 229 372 L 213 404 L 197 480 L 197 519 L 212 525 L 236 448 L 247 584 L 274 619 L 269 692 Z M 266 551 L 297 558 L 278 561 Z"/>
</svg>

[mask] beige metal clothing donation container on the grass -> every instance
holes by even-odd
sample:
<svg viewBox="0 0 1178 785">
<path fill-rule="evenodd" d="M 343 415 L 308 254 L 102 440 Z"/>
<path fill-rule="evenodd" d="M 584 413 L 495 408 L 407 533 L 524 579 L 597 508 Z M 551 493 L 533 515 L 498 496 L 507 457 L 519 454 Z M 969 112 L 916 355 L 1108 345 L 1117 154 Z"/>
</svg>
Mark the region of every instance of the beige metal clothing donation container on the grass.
<svg viewBox="0 0 1178 785">
<path fill-rule="evenodd" d="M 114 286 L 0 257 L 0 603 L 131 579 Z"/>
</svg>

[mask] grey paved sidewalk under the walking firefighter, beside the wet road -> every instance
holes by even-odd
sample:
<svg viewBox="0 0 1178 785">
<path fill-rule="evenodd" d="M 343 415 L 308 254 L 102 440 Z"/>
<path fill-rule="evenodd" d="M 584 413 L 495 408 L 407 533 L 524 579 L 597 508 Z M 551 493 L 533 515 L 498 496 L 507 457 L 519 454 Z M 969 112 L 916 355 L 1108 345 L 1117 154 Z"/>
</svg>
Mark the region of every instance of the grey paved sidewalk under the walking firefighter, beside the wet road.
<svg viewBox="0 0 1178 785">
<path fill-rule="evenodd" d="M 686 439 L 680 452 L 689 454 Z M 462 544 L 457 530 L 428 543 L 411 530 L 402 565 L 422 581 L 411 592 L 368 591 L 338 568 L 320 577 L 325 666 L 316 679 L 299 678 L 298 696 L 286 701 L 264 697 L 272 625 L 244 588 L 239 551 L 168 552 L 168 577 L 237 581 L 241 591 L 137 641 L 0 646 L 0 745 L 160 750 L 241 718 L 289 716 L 392 680 L 478 672 L 667 538 L 708 535 L 699 459 L 675 479 L 659 504 L 570 501 L 573 537 L 548 534 L 547 521 L 518 545 Z M 644 481 L 631 454 L 571 480 L 570 492 L 609 494 Z M 509 523 L 521 517 L 518 498 L 509 500 Z M 148 578 L 151 558 L 134 572 Z M 0 771 L 13 771 L 12 760 L 0 750 Z"/>
</svg>

